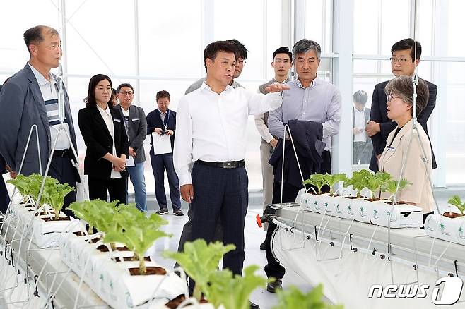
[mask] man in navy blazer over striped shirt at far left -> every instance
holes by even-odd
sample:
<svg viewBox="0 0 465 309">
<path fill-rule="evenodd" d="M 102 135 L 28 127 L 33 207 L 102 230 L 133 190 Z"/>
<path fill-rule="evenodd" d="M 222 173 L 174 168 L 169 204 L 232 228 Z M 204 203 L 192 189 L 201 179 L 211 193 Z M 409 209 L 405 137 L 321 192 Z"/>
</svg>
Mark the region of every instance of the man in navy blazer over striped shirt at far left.
<svg viewBox="0 0 465 309">
<path fill-rule="evenodd" d="M 39 25 L 26 30 L 24 41 L 30 59 L 22 70 L 8 80 L 0 92 L 2 118 L 8 120 L 0 121 L 0 153 L 13 172 L 24 175 L 45 174 L 52 143 L 57 140 L 49 176 L 75 187 L 79 174 L 71 163 L 71 160 L 77 162 L 71 151 L 71 143 L 75 150 L 77 147 L 69 98 L 64 90 L 65 120 L 61 127 L 64 130 L 59 131 L 58 82 L 50 73 L 51 68 L 59 66 L 59 34 L 53 28 Z M 33 125 L 37 126 L 39 145 L 33 135 L 26 152 L 28 135 Z M 71 143 L 66 133 L 69 134 Z M 40 164 L 37 153 L 40 153 Z M 20 169 L 23 154 L 25 159 Z M 69 205 L 75 199 L 76 193 L 69 193 L 64 205 Z"/>
</svg>

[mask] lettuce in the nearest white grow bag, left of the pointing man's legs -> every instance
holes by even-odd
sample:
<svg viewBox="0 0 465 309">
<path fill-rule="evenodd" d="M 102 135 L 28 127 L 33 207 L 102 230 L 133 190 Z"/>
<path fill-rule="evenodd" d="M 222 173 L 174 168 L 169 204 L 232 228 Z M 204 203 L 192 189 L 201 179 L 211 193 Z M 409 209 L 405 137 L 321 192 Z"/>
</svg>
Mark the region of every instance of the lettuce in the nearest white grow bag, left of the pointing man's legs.
<svg viewBox="0 0 465 309">
<path fill-rule="evenodd" d="M 146 214 L 136 207 L 120 209 L 114 215 L 114 221 L 122 226 L 122 230 L 105 232 L 103 241 L 124 243 L 139 258 L 139 274 L 146 274 L 144 254 L 158 238 L 172 236 L 160 230 L 160 227 L 168 222 L 158 214 L 146 217 Z"/>
</svg>

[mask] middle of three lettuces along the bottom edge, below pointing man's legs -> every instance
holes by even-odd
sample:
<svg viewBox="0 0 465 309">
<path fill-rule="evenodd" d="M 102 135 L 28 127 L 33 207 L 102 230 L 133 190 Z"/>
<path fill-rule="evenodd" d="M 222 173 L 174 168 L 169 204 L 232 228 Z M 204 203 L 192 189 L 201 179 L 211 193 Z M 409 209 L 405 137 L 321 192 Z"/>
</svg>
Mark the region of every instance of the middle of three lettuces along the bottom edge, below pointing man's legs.
<svg viewBox="0 0 465 309">
<path fill-rule="evenodd" d="M 208 286 L 208 302 L 215 308 L 223 305 L 225 309 L 250 308 L 249 297 L 254 289 L 266 284 L 266 279 L 257 276 L 254 272 L 259 267 L 250 265 L 244 269 L 244 274 L 232 275 L 230 270 L 214 272 L 210 277 Z"/>
</svg>

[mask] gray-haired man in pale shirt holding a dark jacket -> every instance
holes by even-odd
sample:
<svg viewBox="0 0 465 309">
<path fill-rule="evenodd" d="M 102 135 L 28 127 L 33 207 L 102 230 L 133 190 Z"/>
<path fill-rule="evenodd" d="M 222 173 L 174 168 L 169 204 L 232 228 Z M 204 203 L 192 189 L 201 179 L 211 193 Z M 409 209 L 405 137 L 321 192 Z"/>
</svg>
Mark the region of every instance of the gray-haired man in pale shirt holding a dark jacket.
<svg viewBox="0 0 465 309">
<path fill-rule="evenodd" d="M 273 136 L 278 138 L 288 138 L 284 134 L 284 124 L 290 120 L 313 121 L 322 123 L 323 138 L 326 143 L 322 153 L 323 163 L 320 171 L 331 173 L 331 137 L 339 133 L 339 123 L 341 122 L 341 92 L 336 86 L 318 78 L 317 69 L 321 61 L 321 47 L 310 40 L 300 40 L 293 47 L 293 61 L 295 71 L 298 75 L 296 80 L 286 83 L 290 90 L 283 92 L 283 104 L 278 109 L 270 111 L 268 128 Z M 292 133 L 292 132 L 291 132 Z M 287 135 L 287 133 L 286 133 Z M 274 188 L 280 188 L 275 180 Z M 283 202 L 294 202 L 300 188 L 293 186 L 283 188 Z M 281 191 L 274 190 L 273 202 L 281 199 Z M 276 224 L 269 224 L 266 231 L 266 275 L 276 278 L 268 284 L 266 290 L 275 293 L 276 289 L 281 289 L 281 279 L 285 269 L 271 253 L 271 234 L 276 229 Z"/>
</svg>

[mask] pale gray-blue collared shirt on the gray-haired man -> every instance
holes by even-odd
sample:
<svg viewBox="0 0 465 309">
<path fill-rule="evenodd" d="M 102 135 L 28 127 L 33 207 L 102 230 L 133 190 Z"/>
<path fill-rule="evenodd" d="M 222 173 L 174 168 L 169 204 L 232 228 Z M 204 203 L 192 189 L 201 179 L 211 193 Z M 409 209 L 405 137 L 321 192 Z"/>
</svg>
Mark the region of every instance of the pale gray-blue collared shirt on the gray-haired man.
<svg viewBox="0 0 465 309">
<path fill-rule="evenodd" d="M 331 150 L 331 136 L 339 133 L 341 122 L 341 92 L 320 78 L 315 78 L 310 87 L 303 87 L 298 79 L 286 83 L 289 90 L 283 91 L 283 104 L 270 111 L 268 128 L 272 135 L 284 137 L 284 124 L 292 119 L 314 121 L 323 124 L 324 150 Z M 292 133 L 292 132 L 291 132 Z"/>
</svg>

